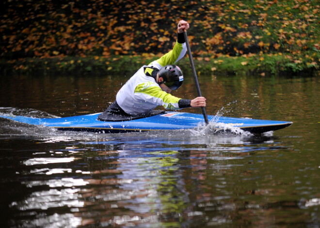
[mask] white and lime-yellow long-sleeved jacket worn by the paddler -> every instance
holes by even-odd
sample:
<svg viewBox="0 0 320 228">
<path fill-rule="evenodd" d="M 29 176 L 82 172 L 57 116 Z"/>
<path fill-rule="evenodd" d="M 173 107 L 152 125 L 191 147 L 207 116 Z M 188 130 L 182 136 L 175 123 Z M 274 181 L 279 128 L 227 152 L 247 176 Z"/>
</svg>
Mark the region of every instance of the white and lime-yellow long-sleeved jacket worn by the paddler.
<svg viewBox="0 0 320 228">
<path fill-rule="evenodd" d="M 118 91 L 116 102 L 127 114 L 131 116 L 147 114 L 157 106 L 163 106 L 167 109 L 186 107 L 181 105 L 181 103 L 185 102 L 180 102 L 179 106 L 181 98 L 162 91 L 155 78 L 151 76 L 155 73 L 152 71 L 155 70 L 157 72 L 161 67 L 175 64 L 184 57 L 187 47 L 186 43 L 178 43 L 181 40 L 181 36 L 179 40 L 179 35 L 173 50 L 149 65 L 141 67 Z"/>
</svg>

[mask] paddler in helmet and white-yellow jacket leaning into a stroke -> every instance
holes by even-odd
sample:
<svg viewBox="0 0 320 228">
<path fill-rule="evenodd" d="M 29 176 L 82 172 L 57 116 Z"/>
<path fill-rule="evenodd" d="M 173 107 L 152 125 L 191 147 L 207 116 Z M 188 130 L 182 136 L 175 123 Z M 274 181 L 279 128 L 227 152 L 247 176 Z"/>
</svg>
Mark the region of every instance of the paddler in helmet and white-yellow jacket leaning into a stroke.
<svg viewBox="0 0 320 228">
<path fill-rule="evenodd" d="M 188 100 L 170 94 L 183 82 L 182 71 L 174 64 L 186 54 L 183 31 L 188 29 L 189 23 L 180 20 L 177 25 L 177 42 L 173 49 L 160 59 L 142 66 L 118 91 L 116 100 L 98 119 L 106 120 L 106 117 L 112 115 L 147 116 L 157 106 L 167 109 L 205 107 L 204 97 Z"/>
</svg>

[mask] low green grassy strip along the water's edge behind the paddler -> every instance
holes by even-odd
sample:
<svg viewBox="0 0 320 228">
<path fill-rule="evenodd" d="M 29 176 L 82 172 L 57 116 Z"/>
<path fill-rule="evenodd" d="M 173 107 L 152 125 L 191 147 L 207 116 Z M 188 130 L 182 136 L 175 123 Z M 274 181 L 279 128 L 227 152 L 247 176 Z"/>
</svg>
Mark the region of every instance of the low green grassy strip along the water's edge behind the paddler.
<svg viewBox="0 0 320 228">
<path fill-rule="evenodd" d="M 113 57 L 55 57 L 0 60 L 1 75 L 132 75 L 139 67 L 156 60 L 160 55 L 113 56 Z M 320 51 L 304 55 L 248 54 L 241 56 L 221 55 L 194 58 L 197 73 L 211 75 L 256 74 L 257 76 L 279 74 L 310 74 L 319 71 Z M 188 72 L 188 57 L 179 61 Z"/>
</svg>

